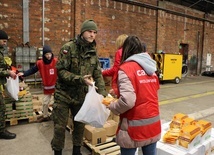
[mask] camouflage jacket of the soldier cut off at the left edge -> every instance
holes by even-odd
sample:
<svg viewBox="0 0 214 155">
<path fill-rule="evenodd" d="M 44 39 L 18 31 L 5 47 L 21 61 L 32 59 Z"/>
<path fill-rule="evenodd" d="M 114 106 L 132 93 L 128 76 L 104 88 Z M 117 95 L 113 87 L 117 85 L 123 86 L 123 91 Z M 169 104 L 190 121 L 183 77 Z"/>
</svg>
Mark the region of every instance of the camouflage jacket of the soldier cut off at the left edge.
<svg viewBox="0 0 214 155">
<path fill-rule="evenodd" d="M 0 47 L 0 85 L 3 85 L 7 82 L 6 77 L 9 77 L 9 72 L 7 71 L 8 65 L 4 60 L 3 51 L 4 47 Z"/>
</svg>

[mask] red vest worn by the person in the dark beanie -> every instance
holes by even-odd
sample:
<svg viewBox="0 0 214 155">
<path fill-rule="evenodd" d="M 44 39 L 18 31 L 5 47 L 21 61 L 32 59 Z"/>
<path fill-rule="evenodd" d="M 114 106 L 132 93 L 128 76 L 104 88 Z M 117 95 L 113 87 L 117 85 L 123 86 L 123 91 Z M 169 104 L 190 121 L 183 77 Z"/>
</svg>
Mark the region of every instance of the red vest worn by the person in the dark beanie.
<svg viewBox="0 0 214 155">
<path fill-rule="evenodd" d="M 52 94 L 55 91 L 57 79 L 56 62 L 57 58 L 53 58 L 50 64 L 45 64 L 43 60 L 38 60 L 36 63 L 42 77 L 44 94 Z"/>
</svg>

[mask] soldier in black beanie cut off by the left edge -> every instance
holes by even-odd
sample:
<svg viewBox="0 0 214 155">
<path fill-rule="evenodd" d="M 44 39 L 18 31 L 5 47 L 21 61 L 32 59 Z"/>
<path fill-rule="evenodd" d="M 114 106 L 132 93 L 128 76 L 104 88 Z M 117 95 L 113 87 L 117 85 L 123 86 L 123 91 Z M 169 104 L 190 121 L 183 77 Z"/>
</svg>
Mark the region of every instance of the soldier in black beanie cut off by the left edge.
<svg viewBox="0 0 214 155">
<path fill-rule="evenodd" d="M 6 77 L 16 79 L 16 74 L 8 70 L 8 65 L 4 60 L 4 50 L 7 44 L 8 35 L 5 31 L 0 30 L 0 139 L 14 139 L 16 134 L 11 133 L 5 129 L 5 104 L 3 98 L 4 84 L 7 82 Z"/>
</svg>

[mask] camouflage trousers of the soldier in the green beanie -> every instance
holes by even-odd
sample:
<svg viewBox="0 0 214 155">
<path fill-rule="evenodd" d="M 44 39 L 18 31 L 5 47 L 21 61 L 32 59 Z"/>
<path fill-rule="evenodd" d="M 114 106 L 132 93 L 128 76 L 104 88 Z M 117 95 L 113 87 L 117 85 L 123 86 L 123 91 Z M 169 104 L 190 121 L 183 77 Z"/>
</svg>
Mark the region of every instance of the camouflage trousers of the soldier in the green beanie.
<svg viewBox="0 0 214 155">
<path fill-rule="evenodd" d="M 55 101 L 51 115 L 54 122 L 54 136 L 51 141 L 51 147 L 53 150 L 62 150 L 65 143 L 65 130 L 69 117 L 69 109 L 72 116 L 75 116 L 81 108 L 81 104 L 72 104 L 71 102 L 69 103 L 69 101 L 65 103 L 65 101 L 58 100 L 57 98 L 54 99 Z M 74 121 L 74 130 L 72 132 L 73 145 L 82 145 L 84 127 L 85 124 Z"/>
</svg>

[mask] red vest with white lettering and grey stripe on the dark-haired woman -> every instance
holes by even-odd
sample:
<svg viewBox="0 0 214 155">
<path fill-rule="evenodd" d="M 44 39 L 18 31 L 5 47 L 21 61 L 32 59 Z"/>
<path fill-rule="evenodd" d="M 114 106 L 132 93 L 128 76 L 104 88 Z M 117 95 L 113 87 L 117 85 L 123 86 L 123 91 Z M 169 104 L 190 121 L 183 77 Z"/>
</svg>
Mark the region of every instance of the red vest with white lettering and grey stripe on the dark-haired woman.
<svg viewBox="0 0 214 155">
<path fill-rule="evenodd" d="M 143 141 L 161 133 L 158 105 L 159 80 L 156 74 L 148 76 L 136 62 L 126 62 L 120 66 L 129 77 L 135 93 L 135 106 L 120 115 L 128 120 L 129 136 L 136 141 Z"/>
</svg>

